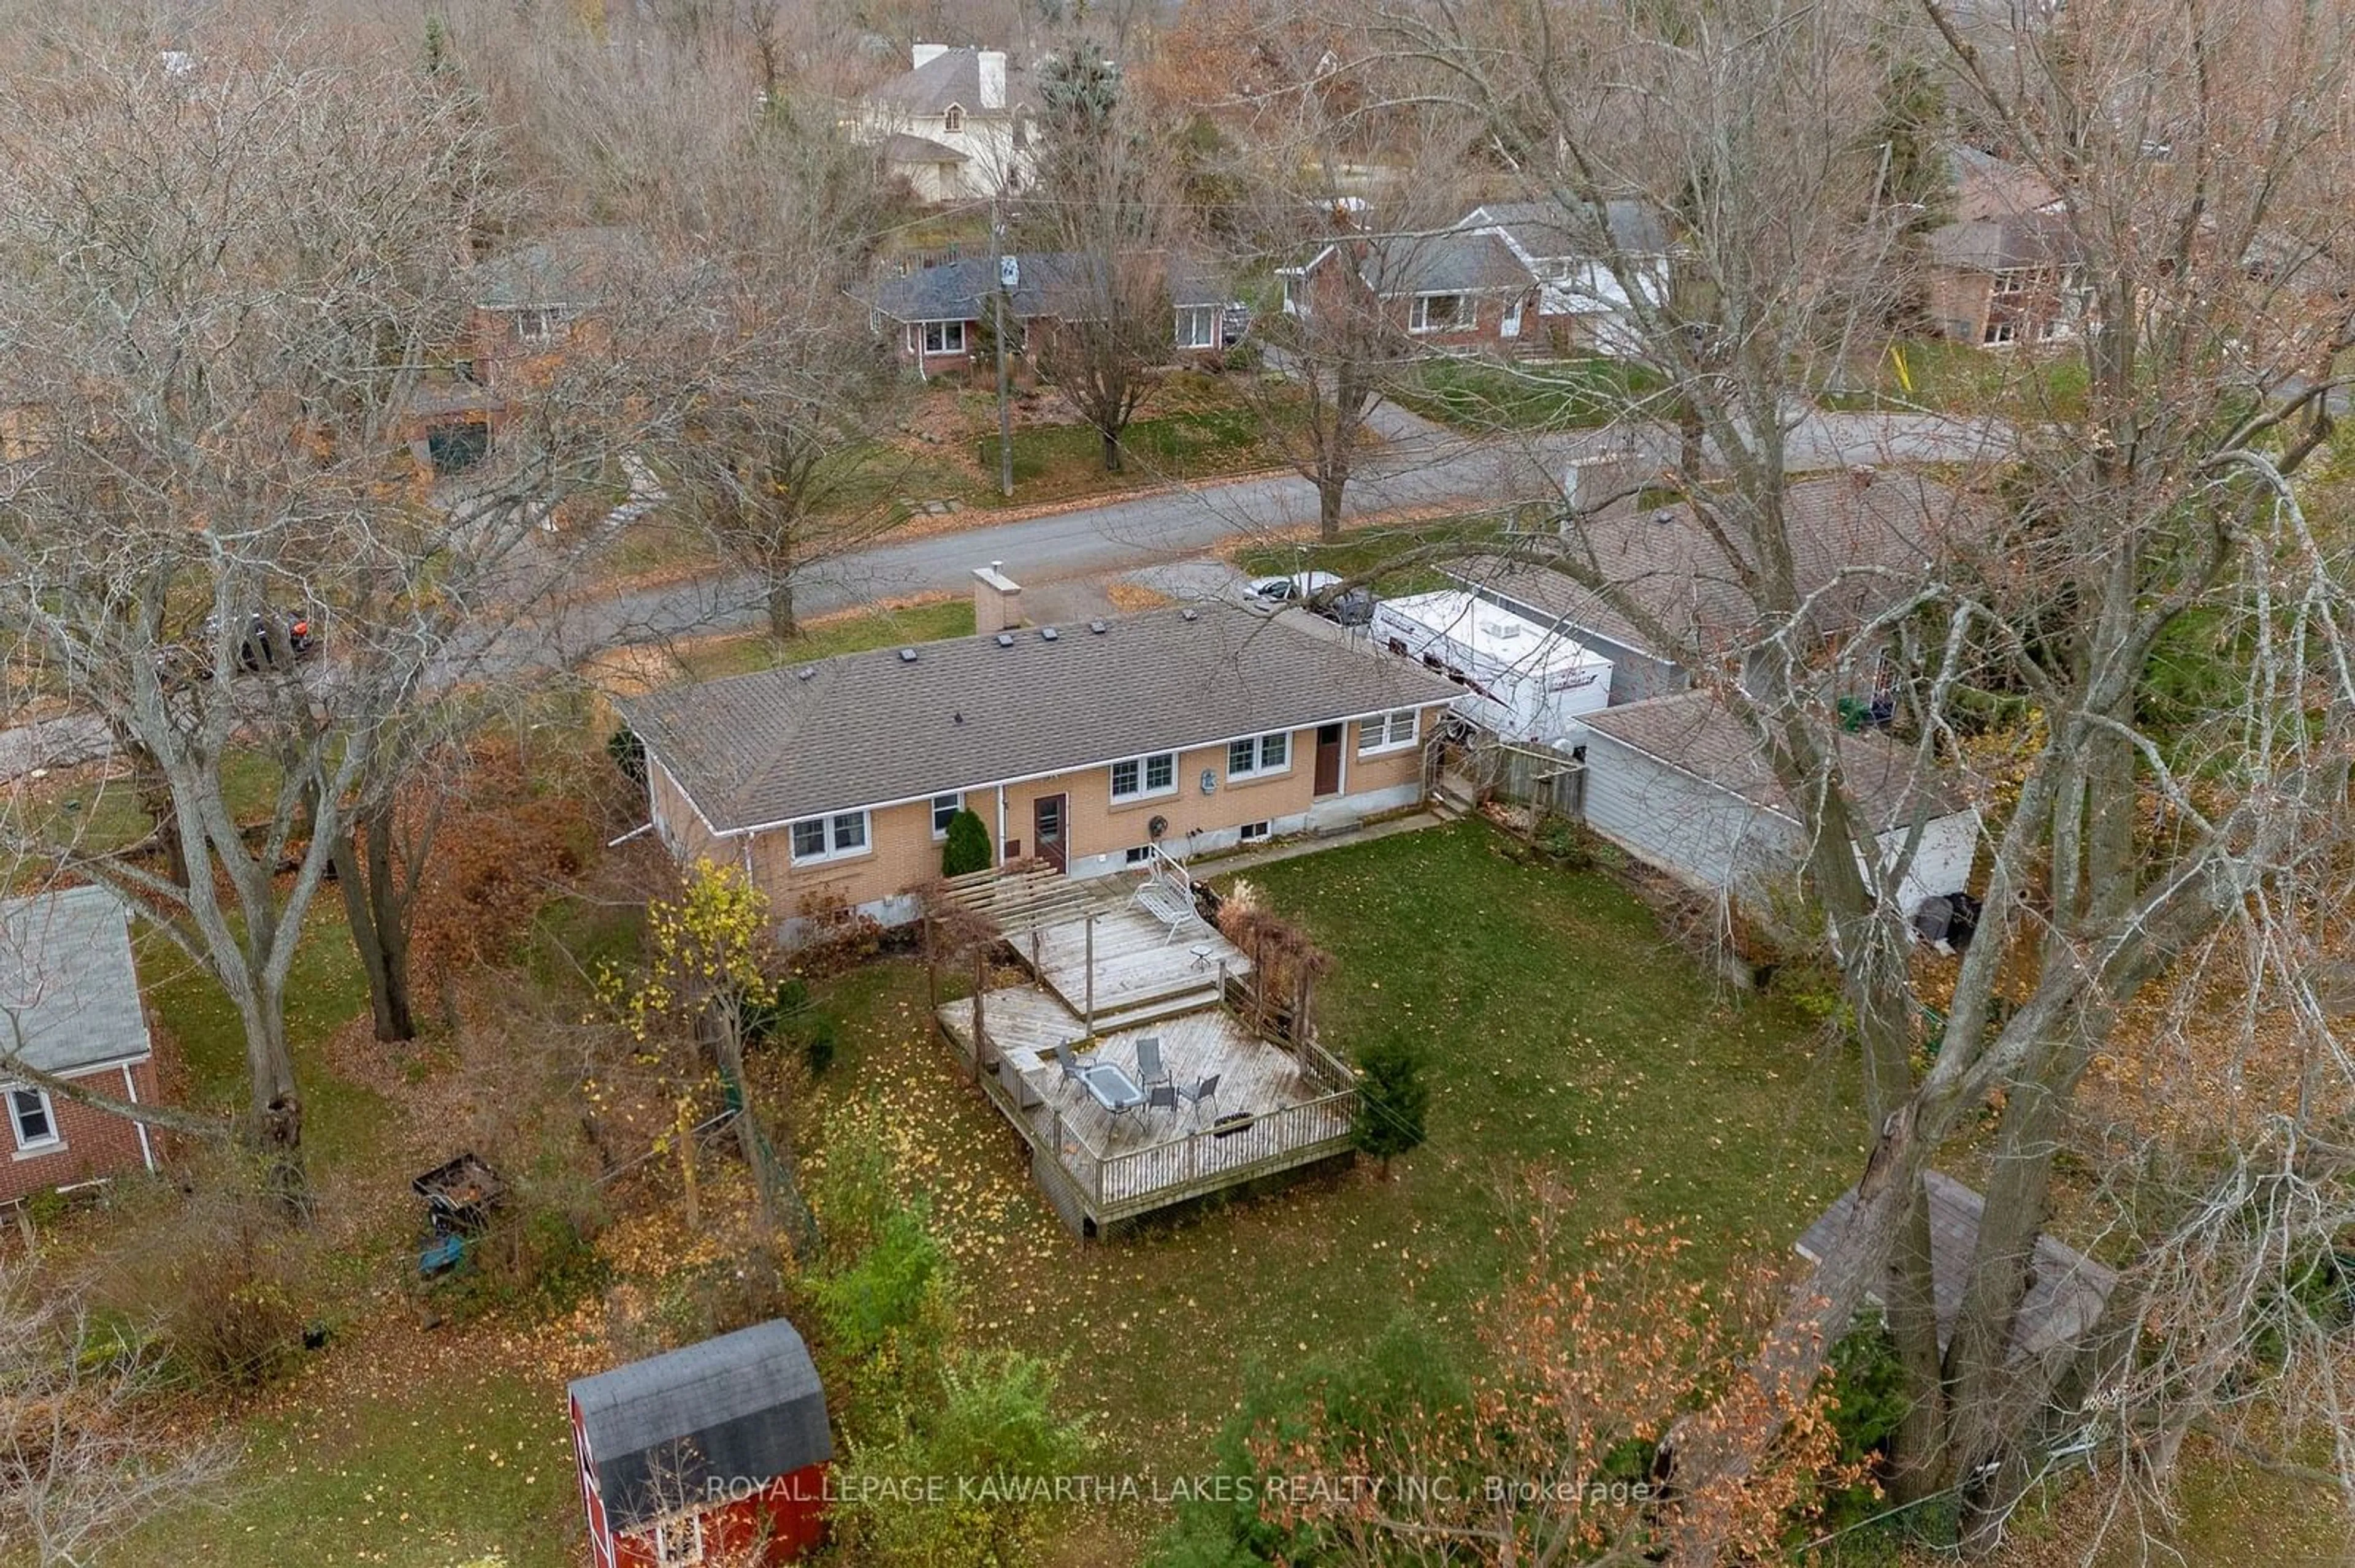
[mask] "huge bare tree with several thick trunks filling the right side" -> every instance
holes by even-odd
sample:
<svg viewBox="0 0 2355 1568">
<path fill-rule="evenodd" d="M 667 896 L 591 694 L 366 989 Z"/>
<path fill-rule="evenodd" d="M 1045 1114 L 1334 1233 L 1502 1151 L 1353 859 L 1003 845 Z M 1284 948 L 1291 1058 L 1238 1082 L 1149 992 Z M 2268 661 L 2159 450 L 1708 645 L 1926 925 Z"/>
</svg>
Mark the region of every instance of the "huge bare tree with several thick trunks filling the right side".
<svg viewBox="0 0 2355 1568">
<path fill-rule="evenodd" d="M 1870 1156 L 1846 1234 L 1747 1375 L 1762 1394 L 1811 1380 L 1879 1293 L 1912 1398 L 1898 1486 L 1959 1490 L 1964 1540 L 1985 1549 L 2056 1434 L 2091 1427 L 2122 1460 L 2108 1474 L 2164 1486 L 2181 1436 L 2251 1389 L 2343 1408 L 2313 1335 L 2287 1361 L 2261 1347 L 2277 1344 L 2291 1260 L 2327 1253 L 2355 1212 L 2334 1154 L 2350 1074 L 2313 968 L 2343 935 L 2320 911 L 2348 848 L 2355 607 L 2343 530 L 2310 513 L 2327 492 L 2301 478 L 2348 344 L 2346 219 L 2322 193 L 2348 174 L 2350 19 L 2256 7 L 2223 26 L 2200 5 L 2112 0 L 1997 28 L 1997 52 L 1938 0 L 1919 16 L 1969 118 L 1999 125 L 2061 191 L 2084 299 L 2065 351 L 2089 391 L 2061 400 L 2037 363 L 2018 365 L 2002 483 L 1981 501 L 1992 525 L 1917 572 L 1839 563 L 1830 584 L 1797 560 L 1792 443 L 1846 325 L 1886 320 L 1912 287 L 1875 217 L 1884 160 L 1853 129 L 1875 122 L 1872 24 L 1889 14 L 1392 9 L 1361 38 L 1422 64 L 1422 94 L 1484 115 L 1519 193 L 1590 224 L 1632 351 L 1686 410 L 1689 440 L 1667 443 L 1658 483 L 1684 490 L 1705 539 L 1696 582 L 1731 586 L 1752 614 L 1731 645 L 1696 643 L 1630 593 L 1601 553 L 1608 530 L 1575 506 L 1559 537 L 1519 549 L 1700 671 L 1799 803 L 1806 890 L 1856 1017 Z M 1594 221 L 1632 193 L 1679 214 L 1667 290 Z M 1860 582 L 1879 605 L 1868 636 L 1827 650 L 1811 607 Z M 2152 692 L 2188 624 L 2230 626 L 2204 650 L 2214 702 L 2162 725 Z M 1893 855 L 1879 841 L 1830 725 L 1832 697 L 1879 650 L 1903 673 L 1900 732 L 1924 777 L 1985 727 L 1988 690 L 2035 713 L 1988 817 L 1985 921 L 1926 1067 L 1898 899 L 1917 838 Z M 2218 984 L 2251 996 L 2240 1022 L 2202 1012 Z M 2011 1347 L 2087 1069 L 2122 1048 L 2129 1012 L 2127 1041 L 2221 1029 L 2249 1050 L 2268 1005 L 2289 1019 L 2296 1071 L 2256 1114 L 2202 1128 L 2200 1144 L 2143 1130 L 2124 1156 L 2103 1151 L 2089 1201 L 2134 1245 L 2096 1335 L 2108 1398 L 2082 1408 L 2072 1363 Z M 1995 1104 L 1995 1177 L 1941 1347 L 1922 1172 Z M 2162 1154 L 2171 1182 L 2143 1180 Z M 1684 1427 L 1674 1479 L 1738 1479 L 1771 1441 L 1771 1422 Z"/>
</svg>

